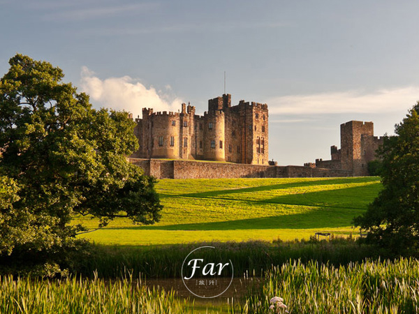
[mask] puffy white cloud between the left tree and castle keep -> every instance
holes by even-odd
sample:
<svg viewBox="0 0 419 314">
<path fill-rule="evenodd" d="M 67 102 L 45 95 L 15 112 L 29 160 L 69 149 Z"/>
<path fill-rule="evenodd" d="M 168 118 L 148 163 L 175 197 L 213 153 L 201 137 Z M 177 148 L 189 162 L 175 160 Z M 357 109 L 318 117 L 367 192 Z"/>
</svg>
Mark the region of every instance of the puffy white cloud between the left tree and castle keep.
<svg viewBox="0 0 419 314">
<path fill-rule="evenodd" d="M 89 94 L 95 107 L 125 110 L 133 113 L 134 117 L 142 117 L 143 107 L 153 108 L 154 112 L 177 111 L 182 103 L 179 98 L 158 92 L 154 87 L 147 89 L 129 76 L 101 80 L 85 66 L 82 68 L 80 86 L 82 91 Z"/>
</svg>

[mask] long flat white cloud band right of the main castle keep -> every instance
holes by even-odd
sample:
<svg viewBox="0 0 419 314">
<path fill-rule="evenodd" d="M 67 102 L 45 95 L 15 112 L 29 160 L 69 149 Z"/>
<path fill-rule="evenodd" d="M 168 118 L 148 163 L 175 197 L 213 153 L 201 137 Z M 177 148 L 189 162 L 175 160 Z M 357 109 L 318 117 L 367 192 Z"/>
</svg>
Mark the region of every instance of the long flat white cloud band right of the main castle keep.
<svg viewBox="0 0 419 314">
<path fill-rule="evenodd" d="M 266 100 L 270 114 L 340 114 L 406 111 L 419 100 L 419 87 L 291 95 Z"/>
</svg>

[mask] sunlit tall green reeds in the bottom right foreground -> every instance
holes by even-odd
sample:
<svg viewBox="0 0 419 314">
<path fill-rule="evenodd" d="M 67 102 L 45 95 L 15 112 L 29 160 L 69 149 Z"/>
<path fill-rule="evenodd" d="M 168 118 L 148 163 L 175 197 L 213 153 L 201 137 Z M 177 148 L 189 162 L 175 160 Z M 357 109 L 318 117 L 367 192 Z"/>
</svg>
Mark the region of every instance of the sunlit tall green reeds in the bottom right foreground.
<svg viewBox="0 0 419 314">
<path fill-rule="evenodd" d="M 289 313 L 419 313 L 419 262 L 401 258 L 341 267 L 289 262 L 267 272 L 242 312 L 269 313 L 274 296 L 284 298 Z"/>
</svg>

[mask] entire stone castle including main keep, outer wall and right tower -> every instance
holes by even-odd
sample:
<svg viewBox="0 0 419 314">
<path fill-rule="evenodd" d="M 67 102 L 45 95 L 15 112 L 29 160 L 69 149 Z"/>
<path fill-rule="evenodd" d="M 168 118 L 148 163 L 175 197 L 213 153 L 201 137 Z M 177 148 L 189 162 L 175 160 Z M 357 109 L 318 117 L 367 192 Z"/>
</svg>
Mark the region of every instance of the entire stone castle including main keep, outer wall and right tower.
<svg viewBox="0 0 419 314">
<path fill-rule="evenodd" d="M 129 160 L 158 179 L 367 176 L 383 142 L 372 122 L 348 121 L 340 127 L 341 149 L 330 147 L 330 160 L 278 166 L 268 161 L 267 105 L 240 100 L 231 106 L 230 94 L 208 100 L 203 116 L 183 103 L 181 112 L 143 108 L 135 122 L 140 146 Z"/>
</svg>

